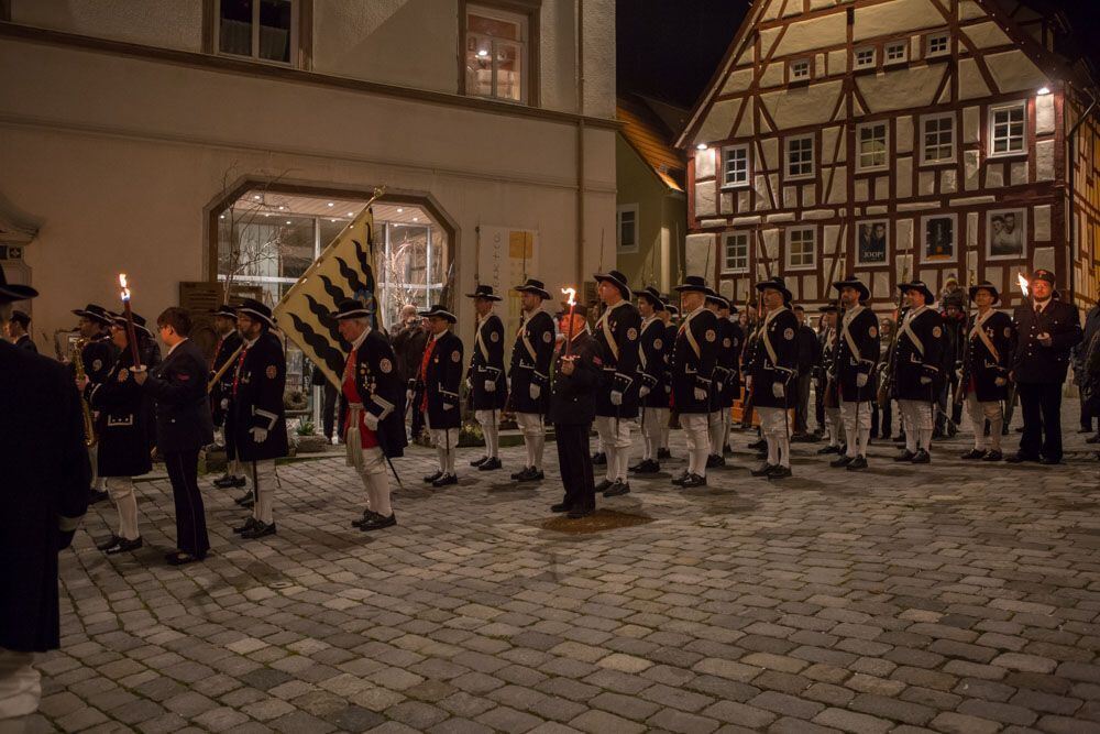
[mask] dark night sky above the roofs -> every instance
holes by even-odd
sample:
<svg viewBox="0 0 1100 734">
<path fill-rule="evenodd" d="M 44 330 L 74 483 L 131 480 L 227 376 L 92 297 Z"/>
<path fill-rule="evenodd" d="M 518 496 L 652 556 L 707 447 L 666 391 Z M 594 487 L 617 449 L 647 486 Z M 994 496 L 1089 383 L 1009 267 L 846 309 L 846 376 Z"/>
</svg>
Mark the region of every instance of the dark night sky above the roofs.
<svg viewBox="0 0 1100 734">
<path fill-rule="evenodd" d="M 1100 68 L 1100 0 L 1046 0 L 1062 8 Z M 740 25 L 748 0 L 618 0 L 619 91 L 690 108 Z"/>
</svg>

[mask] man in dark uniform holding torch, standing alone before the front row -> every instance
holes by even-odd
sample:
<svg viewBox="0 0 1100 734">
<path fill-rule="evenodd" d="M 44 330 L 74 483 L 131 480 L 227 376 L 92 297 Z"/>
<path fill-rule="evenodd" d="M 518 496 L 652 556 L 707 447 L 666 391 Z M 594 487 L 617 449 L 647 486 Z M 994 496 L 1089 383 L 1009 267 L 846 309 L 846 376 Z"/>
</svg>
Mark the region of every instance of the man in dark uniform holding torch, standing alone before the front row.
<svg viewBox="0 0 1100 734">
<path fill-rule="evenodd" d="M 595 363 L 596 342 L 584 328 L 587 316 L 588 309 L 578 304 L 570 319 L 569 307 L 565 306 L 560 329 L 569 341 L 561 346 L 556 357 L 550 391 L 550 420 L 554 426 L 561 483 L 565 491 L 562 501 L 550 511 L 569 513 L 573 519 L 591 515 L 596 510 L 588 435 L 596 415 L 595 391 L 602 374 Z"/>
</svg>

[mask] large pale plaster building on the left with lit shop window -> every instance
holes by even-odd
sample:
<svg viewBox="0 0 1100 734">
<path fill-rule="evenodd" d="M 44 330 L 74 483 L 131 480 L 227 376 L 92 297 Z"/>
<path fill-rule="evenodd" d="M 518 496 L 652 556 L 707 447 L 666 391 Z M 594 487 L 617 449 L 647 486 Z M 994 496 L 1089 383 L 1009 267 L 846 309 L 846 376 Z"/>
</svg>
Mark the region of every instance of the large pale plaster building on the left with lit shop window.
<svg viewBox="0 0 1100 734">
<path fill-rule="evenodd" d="M 615 256 L 613 240 L 598 252 L 616 210 L 614 11 L 0 1 L 0 239 L 18 245 L 0 254 L 43 294 L 40 349 L 70 309 L 117 307 L 120 271 L 150 318 L 182 283 L 224 277 L 227 212 L 251 211 L 243 239 L 279 240 L 240 275 L 277 296 L 376 186 L 376 218 L 413 230 L 395 238 L 435 248 L 404 265 L 422 299 L 448 274 L 458 294 L 524 267 L 551 289 L 591 278 Z M 454 305 L 469 337 L 470 302 Z"/>
</svg>

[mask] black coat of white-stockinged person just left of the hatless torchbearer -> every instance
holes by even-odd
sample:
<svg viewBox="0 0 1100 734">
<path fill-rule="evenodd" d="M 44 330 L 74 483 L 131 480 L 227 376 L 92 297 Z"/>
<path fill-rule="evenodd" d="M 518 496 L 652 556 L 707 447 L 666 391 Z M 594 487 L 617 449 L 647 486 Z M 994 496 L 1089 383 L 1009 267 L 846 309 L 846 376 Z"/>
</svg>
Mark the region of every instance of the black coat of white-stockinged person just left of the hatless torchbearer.
<svg viewBox="0 0 1100 734">
<path fill-rule="evenodd" d="M 130 350 L 119 354 L 107 379 L 89 386 L 88 402 L 96 410 L 100 476 L 140 476 L 153 469 L 150 458 L 148 401 L 133 375 Z M 86 391 L 86 392 L 87 392 Z"/>
</svg>

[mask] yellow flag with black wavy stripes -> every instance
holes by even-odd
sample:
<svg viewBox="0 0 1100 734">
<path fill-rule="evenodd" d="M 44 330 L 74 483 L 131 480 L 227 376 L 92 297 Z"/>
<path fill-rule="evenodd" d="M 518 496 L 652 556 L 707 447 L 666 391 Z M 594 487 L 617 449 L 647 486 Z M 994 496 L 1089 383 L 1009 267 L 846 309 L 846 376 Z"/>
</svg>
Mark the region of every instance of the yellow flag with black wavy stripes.
<svg viewBox="0 0 1100 734">
<path fill-rule="evenodd" d="M 374 315 L 377 328 L 376 288 L 374 212 L 367 205 L 275 307 L 275 319 L 287 339 L 338 387 L 350 344 L 340 337 L 331 314 L 338 303 L 354 298 Z"/>
</svg>

